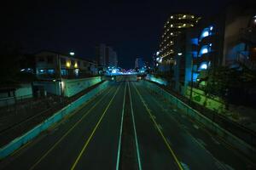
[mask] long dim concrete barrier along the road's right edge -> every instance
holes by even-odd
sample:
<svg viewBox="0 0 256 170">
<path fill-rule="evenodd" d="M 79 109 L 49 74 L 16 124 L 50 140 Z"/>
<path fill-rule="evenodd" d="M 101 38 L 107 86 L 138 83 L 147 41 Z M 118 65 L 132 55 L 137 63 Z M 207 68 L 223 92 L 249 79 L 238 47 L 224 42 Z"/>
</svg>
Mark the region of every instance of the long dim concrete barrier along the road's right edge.
<svg viewBox="0 0 256 170">
<path fill-rule="evenodd" d="M 216 133 L 221 139 L 228 144 L 231 144 L 234 148 L 241 151 L 241 153 L 247 155 L 252 160 L 256 160 L 256 150 L 250 144 L 247 144 L 245 141 L 237 138 L 235 135 L 225 130 L 223 127 L 219 127 L 217 123 L 212 122 L 206 116 L 203 116 L 199 111 L 195 111 L 189 105 L 186 105 L 180 99 L 177 99 L 172 94 L 169 94 L 163 88 L 155 85 L 152 82 L 143 81 L 143 86 L 154 91 L 154 93 L 161 94 L 165 99 L 170 101 L 173 105 L 176 105 L 178 109 L 182 110 L 187 116 L 200 122 L 203 126 L 210 129 L 213 133 Z"/>
</svg>

